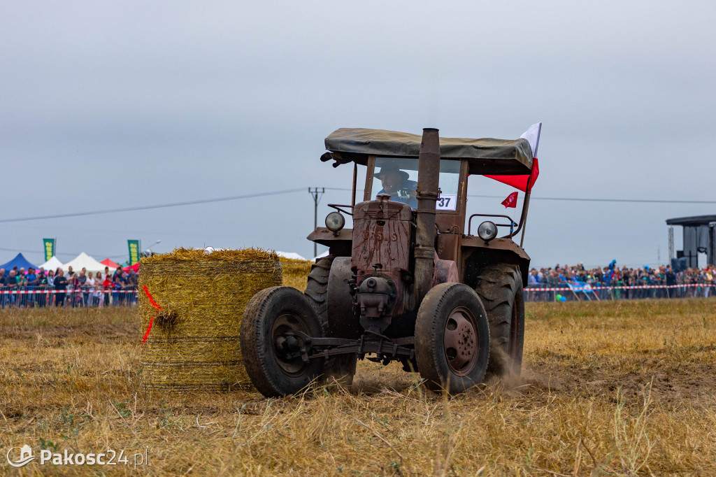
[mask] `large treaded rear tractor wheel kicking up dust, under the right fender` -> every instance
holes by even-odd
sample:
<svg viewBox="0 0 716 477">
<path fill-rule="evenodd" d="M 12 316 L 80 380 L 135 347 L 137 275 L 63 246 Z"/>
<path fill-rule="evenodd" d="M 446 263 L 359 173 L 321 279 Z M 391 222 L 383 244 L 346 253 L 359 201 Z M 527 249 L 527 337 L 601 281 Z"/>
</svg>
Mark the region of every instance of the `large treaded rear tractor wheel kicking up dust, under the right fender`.
<svg viewBox="0 0 716 477">
<path fill-rule="evenodd" d="M 488 265 L 475 287 L 490 322 L 490 366 L 488 373 L 520 375 L 525 341 L 525 299 L 522 274 L 516 265 Z"/>
</svg>

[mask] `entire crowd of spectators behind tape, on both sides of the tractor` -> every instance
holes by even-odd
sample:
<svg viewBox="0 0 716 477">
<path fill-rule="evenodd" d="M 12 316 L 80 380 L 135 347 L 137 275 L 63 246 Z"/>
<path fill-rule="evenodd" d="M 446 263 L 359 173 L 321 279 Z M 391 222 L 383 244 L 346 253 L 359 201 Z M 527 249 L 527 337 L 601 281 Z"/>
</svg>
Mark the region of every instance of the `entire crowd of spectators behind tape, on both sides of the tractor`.
<svg viewBox="0 0 716 477">
<path fill-rule="evenodd" d="M 633 289 L 632 286 L 661 286 L 652 289 Z M 667 287 L 664 287 L 667 286 Z M 670 288 L 669 288 L 670 287 Z M 556 291 L 543 289 L 563 288 L 571 293 L 569 299 L 629 299 L 667 297 L 708 297 L 716 294 L 716 266 L 702 269 L 687 268 L 674 272 L 671 266 L 644 266 L 628 268 L 616 265 L 616 260 L 604 267 L 586 269 L 583 264 L 533 268 L 528 275 L 527 299 L 539 301 L 554 299 Z M 52 293 L 42 293 L 50 291 Z M 131 306 L 137 302 L 137 274 L 121 267 L 104 274 L 79 272 L 69 266 L 45 271 L 32 267 L 28 270 L 0 269 L 0 291 L 32 291 L 32 293 L 1 293 L 0 307 L 108 307 Z M 39 292 L 39 293 L 38 293 Z"/>
</svg>

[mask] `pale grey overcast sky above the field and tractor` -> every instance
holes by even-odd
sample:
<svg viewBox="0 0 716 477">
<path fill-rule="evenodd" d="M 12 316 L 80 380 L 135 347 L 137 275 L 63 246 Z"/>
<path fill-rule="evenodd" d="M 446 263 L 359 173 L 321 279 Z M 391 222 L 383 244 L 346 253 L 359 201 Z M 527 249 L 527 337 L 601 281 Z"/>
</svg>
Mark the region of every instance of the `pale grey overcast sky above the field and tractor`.
<svg viewBox="0 0 716 477">
<path fill-rule="evenodd" d="M 0 222 L 0 262 L 42 263 L 43 237 L 61 261 L 125 260 L 128 238 L 312 256 L 307 189 L 351 186 L 319 160 L 338 127 L 512 139 L 539 121 L 533 264 L 665 262 L 665 219 L 716 203 L 539 198 L 716 201 L 715 19 L 707 1 L 1 2 L 0 220 L 304 190 Z M 470 213 L 510 192 L 470 190 L 500 196 Z M 349 201 L 326 191 L 319 223 Z"/>
</svg>

